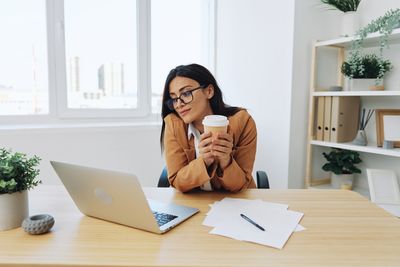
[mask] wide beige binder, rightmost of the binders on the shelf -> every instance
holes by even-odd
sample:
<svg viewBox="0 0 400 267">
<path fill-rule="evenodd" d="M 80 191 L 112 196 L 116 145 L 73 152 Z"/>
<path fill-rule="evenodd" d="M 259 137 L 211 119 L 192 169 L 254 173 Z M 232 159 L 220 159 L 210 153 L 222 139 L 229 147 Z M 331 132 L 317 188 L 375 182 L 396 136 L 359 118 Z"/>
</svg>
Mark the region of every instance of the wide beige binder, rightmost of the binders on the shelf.
<svg viewBox="0 0 400 267">
<path fill-rule="evenodd" d="M 359 96 L 333 96 L 330 141 L 350 142 L 357 135 L 359 115 Z"/>
</svg>

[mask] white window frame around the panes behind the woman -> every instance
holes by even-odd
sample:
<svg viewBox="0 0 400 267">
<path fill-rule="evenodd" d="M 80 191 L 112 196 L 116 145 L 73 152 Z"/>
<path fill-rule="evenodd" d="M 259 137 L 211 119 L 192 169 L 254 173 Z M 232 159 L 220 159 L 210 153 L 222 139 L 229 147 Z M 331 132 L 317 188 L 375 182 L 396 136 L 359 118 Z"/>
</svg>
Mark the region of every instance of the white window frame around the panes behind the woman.
<svg viewBox="0 0 400 267">
<path fill-rule="evenodd" d="M 48 50 L 49 113 L 37 115 L 0 115 L 3 125 L 56 124 L 77 122 L 154 122 L 159 113 L 152 113 L 151 92 L 151 0 L 137 1 L 137 77 L 138 106 L 136 109 L 71 109 L 67 107 L 64 1 L 46 0 L 46 28 Z M 215 70 L 216 1 L 205 0 L 205 20 L 208 33 L 208 65 Z"/>
</svg>

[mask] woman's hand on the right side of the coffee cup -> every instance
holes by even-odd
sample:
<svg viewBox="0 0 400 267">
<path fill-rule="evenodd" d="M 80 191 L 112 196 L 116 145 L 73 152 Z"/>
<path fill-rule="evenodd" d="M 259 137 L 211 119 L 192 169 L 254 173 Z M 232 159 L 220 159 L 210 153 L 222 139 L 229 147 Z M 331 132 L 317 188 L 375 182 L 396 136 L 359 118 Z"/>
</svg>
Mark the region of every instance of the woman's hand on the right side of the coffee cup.
<svg viewBox="0 0 400 267">
<path fill-rule="evenodd" d="M 217 133 L 213 136 L 211 143 L 212 154 L 218 159 L 219 167 L 224 170 L 229 164 L 231 164 L 233 148 L 233 138 L 227 133 Z"/>
</svg>

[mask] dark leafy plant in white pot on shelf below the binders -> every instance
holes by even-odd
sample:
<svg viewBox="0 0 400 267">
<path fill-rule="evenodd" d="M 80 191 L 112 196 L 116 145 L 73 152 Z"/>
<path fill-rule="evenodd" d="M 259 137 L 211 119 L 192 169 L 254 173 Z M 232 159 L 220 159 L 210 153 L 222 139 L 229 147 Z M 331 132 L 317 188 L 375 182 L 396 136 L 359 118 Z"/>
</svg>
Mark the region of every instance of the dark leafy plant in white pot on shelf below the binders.
<svg viewBox="0 0 400 267">
<path fill-rule="evenodd" d="M 331 172 L 331 185 L 333 188 L 352 189 L 354 173 L 361 173 L 355 166 L 362 162 L 360 155 L 356 151 L 333 149 L 329 154 L 322 153 L 328 163 L 322 169 Z"/>
</svg>

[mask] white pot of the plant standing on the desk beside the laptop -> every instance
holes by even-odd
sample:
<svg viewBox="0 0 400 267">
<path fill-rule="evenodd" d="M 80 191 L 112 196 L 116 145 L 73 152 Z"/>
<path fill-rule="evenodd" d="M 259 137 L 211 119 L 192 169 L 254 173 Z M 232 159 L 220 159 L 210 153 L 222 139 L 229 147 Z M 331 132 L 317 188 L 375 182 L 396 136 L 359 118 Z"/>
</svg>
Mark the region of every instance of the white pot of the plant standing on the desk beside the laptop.
<svg viewBox="0 0 400 267">
<path fill-rule="evenodd" d="M 29 216 L 28 191 L 0 194 L 0 231 L 21 227 Z"/>
</svg>

